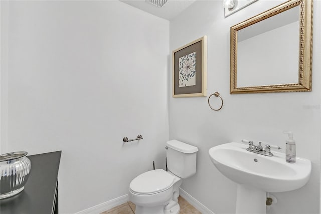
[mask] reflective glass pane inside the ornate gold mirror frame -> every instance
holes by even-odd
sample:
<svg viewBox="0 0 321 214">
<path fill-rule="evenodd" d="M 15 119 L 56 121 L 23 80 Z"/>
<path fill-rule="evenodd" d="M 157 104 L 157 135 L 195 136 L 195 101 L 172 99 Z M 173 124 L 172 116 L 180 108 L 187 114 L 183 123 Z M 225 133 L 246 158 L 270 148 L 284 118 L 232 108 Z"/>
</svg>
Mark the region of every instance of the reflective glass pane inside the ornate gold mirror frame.
<svg viewBox="0 0 321 214">
<path fill-rule="evenodd" d="M 299 27 L 296 6 L 239 30 L 237 87 L 298 82 Z"/>
</svg>

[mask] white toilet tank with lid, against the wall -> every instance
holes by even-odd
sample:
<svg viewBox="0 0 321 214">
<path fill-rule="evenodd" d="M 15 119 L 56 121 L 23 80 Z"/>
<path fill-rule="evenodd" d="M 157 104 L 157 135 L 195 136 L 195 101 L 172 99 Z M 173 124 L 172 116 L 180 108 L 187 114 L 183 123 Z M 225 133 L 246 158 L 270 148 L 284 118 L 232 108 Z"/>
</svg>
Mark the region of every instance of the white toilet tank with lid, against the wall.
<svg viewBox="0 0 321 214">
<path fill-rule="evenodd" d="M 196 172 L 198 148 L 177 140 L 166 142 L 167 168 L 180 178 L 188 178 Z"/>
</svg>

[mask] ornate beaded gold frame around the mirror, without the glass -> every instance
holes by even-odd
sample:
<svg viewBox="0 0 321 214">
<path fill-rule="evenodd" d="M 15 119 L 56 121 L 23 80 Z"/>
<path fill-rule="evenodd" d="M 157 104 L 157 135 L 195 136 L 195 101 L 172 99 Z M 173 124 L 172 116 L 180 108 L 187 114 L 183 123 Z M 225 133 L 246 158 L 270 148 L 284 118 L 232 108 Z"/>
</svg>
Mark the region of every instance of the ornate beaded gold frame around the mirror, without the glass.
<svg viewBox="0 0 321 214">
<path fill-rule="evenodd" d="M 238 31 L 250 25 L 268 19 L 274 15 L 299 7 L 299 51 L 298 82 L 251 85 L 237 87 L 237 46 Z M 304 92 L 312 90 L 312 36 L 313 36 L 313 0 L 289 0 L 257 16 L 231 27 L 230 40 L 230 94 L 238 93 L 271 93 L 271 92 Z M 251 78 L 251 77 L 249 77 Z"/>
</svg>

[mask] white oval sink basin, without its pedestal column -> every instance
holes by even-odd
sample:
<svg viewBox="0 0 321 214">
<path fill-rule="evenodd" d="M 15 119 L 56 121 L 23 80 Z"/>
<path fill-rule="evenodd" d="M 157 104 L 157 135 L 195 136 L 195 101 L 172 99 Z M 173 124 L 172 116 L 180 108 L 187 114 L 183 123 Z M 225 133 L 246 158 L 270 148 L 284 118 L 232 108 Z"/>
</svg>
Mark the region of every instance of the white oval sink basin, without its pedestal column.
<svg viewBox="0 0 321 214">
<path fill-rule="evenodd" d="M 246 151 L 246 148 L 246 144 L 232 142 L 212 147 L 209 154 L 216 168 L 227 178 L 265 192 L 295 190 L 309 180 L 310 160 L 296 157 L 296 163 L 287 163 L 284 153 L 272 150 L 274 156 L 268 157 Z"/>
</svg>

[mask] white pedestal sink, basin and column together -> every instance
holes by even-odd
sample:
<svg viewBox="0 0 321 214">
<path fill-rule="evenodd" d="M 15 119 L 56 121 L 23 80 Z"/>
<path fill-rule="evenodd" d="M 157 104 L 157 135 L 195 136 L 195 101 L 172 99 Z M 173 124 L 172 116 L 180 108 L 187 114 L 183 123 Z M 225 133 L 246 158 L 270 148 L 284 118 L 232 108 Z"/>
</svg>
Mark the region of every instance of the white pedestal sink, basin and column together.
<svg viewBox="0 0 321 214">
<path fill-rule="evenodd" d="M 227 178 L 237 183 L 236 213 L 266 213 L 266 192 L 292 191 L 310 178 L 311 161 L 296 157 L 287 163 L 285 154 L 271 151 L 268 157 L 246 151 L 241 143 L 226 143 L 209 149 L 211 161 Z"/>
</svg>

